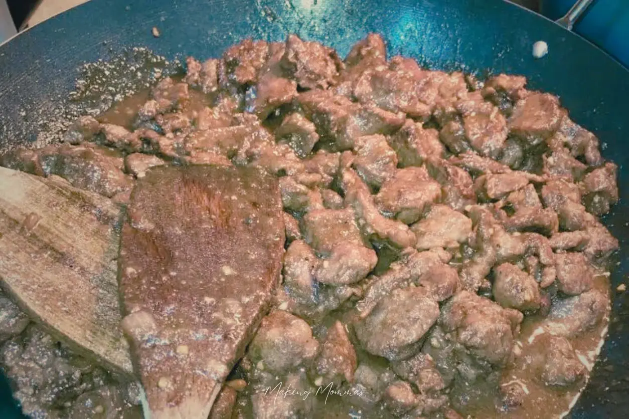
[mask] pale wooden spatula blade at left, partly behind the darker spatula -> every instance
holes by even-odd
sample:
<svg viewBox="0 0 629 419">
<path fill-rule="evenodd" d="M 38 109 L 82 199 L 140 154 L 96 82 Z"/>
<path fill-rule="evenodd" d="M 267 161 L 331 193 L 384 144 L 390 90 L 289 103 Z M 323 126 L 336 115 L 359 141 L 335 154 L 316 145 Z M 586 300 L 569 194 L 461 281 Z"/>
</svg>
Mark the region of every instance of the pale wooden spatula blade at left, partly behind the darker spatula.
<svg viewBox="0 0 629 419">
<path fill-rule="evenodd" d="M 131 376 L 116 282 L 120 222 L 101 195 L 0 167 L 3 287 L 72 349 Z"/>
</svg>

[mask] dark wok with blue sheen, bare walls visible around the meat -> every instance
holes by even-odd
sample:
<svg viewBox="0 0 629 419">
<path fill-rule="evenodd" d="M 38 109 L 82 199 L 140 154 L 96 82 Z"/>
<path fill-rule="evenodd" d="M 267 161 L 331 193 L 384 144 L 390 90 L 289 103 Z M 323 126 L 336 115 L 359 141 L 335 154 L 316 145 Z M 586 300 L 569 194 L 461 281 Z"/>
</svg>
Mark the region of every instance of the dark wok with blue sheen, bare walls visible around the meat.
<svg viewBox="0 0 629 419">
<path fill-rule="evenodd" d="M 297 33 L 345 54 L 370 31 L 384 36 L 391 54 L 427 67 L 523 74 L 530 88 L 559 95 L 572 119 L 593 131 L 603 155 L 621 167 L 621 200 L 604 222 L 621 241 L 613 287 L 625 281 L 629 72 L 579 36 L 501 0 L 93 0 L 0 46 L 0 150 L 57 129 L 46 122 L 69 107 L 77 68 L 127 46 L 147 46 L 167 58 L 206 58 L 248 36 L 280 41 Z M 531 52 L 538 40 L 550 52 L 536 60 Z M 610 335 L 573 418 L 629 416 L 627 299 L 615 294 Z"/>
</svg>

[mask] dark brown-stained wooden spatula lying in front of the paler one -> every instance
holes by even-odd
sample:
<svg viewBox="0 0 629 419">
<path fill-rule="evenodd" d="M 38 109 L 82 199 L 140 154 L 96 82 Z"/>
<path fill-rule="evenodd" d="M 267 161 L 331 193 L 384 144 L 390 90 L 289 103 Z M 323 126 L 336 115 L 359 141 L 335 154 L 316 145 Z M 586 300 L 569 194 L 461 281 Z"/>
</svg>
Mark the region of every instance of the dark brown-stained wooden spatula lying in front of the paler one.
<svg viewBox="0 0 629 419">
<path fill-rule="evenodd" d="M 279 282 L 275 178 L 158 167 L 131 194 L 120 251 L 123 330 L 153 419 L 206 419 Z"/>
</svg>

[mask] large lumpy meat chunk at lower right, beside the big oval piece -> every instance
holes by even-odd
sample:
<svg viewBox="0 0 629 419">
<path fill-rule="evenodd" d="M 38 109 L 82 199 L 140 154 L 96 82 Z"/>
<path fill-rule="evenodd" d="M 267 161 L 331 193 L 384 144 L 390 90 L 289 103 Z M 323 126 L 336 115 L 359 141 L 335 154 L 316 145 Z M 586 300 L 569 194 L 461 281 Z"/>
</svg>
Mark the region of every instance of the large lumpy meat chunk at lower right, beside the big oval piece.
<svg viewBox="0 0 629 419">
<path fill-rule="evenodd" d="M 460 291 L 443 308 L 440 324 L 445 332 L 453 332 L 457 342 L 474 356 L 504 366 L 511 357 L 513 339 L 522 319 L 517 310 Z"/>
</svg>

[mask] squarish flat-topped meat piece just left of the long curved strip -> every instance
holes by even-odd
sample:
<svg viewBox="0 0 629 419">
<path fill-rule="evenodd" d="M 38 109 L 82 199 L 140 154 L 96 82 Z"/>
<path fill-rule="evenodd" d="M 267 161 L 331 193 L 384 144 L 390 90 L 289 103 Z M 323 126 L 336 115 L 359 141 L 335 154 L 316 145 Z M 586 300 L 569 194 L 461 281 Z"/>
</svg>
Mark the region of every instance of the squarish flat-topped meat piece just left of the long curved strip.
<svg viewBox="0 0 629 419">
<path fill-rule="evenodd" d="M 352 209 L 312 210 L 304 215 L 306 242 L 322 254 L 330 254 L 341 242 L 362 245 Z"/>
</svg>

